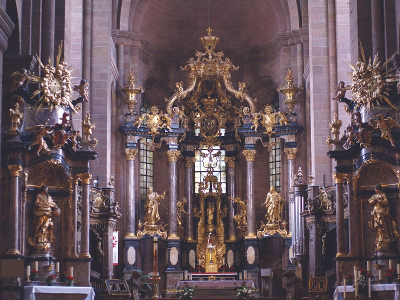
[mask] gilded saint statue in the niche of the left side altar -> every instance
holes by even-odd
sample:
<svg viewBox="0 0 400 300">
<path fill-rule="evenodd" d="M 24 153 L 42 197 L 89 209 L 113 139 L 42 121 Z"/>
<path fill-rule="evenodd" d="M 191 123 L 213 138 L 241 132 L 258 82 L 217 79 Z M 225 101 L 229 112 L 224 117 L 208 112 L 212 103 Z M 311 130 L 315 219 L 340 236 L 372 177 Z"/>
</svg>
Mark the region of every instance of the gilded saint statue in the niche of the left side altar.
<svg viewBox="0 0 400 300">
<path fill-rule="evenodd" d="M 49 251 L 53 236 L 53 217 L 60 214 L 60 210 L 48 194 L 46 185 L 42 185 L 36 195 L 33 206 L 32 234 L 28 242 L 38 251 Z"/>
</svg>

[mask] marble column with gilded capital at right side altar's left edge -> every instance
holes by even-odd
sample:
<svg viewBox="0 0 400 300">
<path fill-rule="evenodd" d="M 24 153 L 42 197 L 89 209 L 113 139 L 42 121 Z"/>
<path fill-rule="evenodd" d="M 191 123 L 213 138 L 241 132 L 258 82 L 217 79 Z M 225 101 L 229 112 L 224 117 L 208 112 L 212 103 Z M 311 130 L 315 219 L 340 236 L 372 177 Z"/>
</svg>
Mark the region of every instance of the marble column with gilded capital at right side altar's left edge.
<svg viewBox="0 0 400 300">
<path fill-rule="evenodd" d="M 345 174 L 333 173 L 332 176 L 336 187 L 336 257 L 340 257 L 346 255 L 343 213 L 343 182 Z"/>
</svg>

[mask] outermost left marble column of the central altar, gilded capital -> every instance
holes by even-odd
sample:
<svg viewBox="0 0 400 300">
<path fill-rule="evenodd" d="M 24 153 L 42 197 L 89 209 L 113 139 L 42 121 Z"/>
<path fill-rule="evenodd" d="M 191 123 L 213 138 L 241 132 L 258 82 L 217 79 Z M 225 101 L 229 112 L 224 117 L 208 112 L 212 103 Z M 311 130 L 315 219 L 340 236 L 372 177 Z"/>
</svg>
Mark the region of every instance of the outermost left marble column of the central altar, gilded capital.
<svg viewBox="0 0 400 300">
<path fill-rule="evenodd" d="M 134 159 L 137 149 L 125 148 L 126 158 L 126 237 L 136 237 L 136 215 L 135 215 L 135 194 L 134 194 Z"/>
</svg>

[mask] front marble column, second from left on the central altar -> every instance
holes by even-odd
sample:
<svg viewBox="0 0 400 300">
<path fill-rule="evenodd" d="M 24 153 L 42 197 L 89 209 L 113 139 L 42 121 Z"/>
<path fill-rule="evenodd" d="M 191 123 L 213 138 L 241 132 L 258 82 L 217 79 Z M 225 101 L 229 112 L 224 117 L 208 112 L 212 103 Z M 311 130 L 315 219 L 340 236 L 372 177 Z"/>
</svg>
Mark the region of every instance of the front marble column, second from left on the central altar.
<svg viewBox="0 0 400 300">
<path fill-rule="evenodd" d="M 177 171 L 176 161 L 179 158 L 179 150 L 167 150 L 169 162 L 169 211 L 168 211 L 168 239 L 179 239 L 177 235 L 176 201 L 177 201 Z"/>
</svg>

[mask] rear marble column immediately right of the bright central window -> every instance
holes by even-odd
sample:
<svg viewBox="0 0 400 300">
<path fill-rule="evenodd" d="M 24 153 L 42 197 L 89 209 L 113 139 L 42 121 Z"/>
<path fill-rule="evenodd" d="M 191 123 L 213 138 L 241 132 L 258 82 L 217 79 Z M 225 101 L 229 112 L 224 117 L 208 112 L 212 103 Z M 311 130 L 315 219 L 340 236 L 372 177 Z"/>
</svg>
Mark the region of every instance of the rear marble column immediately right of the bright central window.
<svg viewBox="0 0 400 300">
<path fill-rule="evenodd" d="M 228 166 L 228 196 L 234 198 L 236 196 L 236 161 L 234 156 L 226 156 L 225 162 Z M 234 216 L 234 203 L 228 201 L 228 240 L 236 240 L 236 230 L 233 220 Z"/>
</svg>

